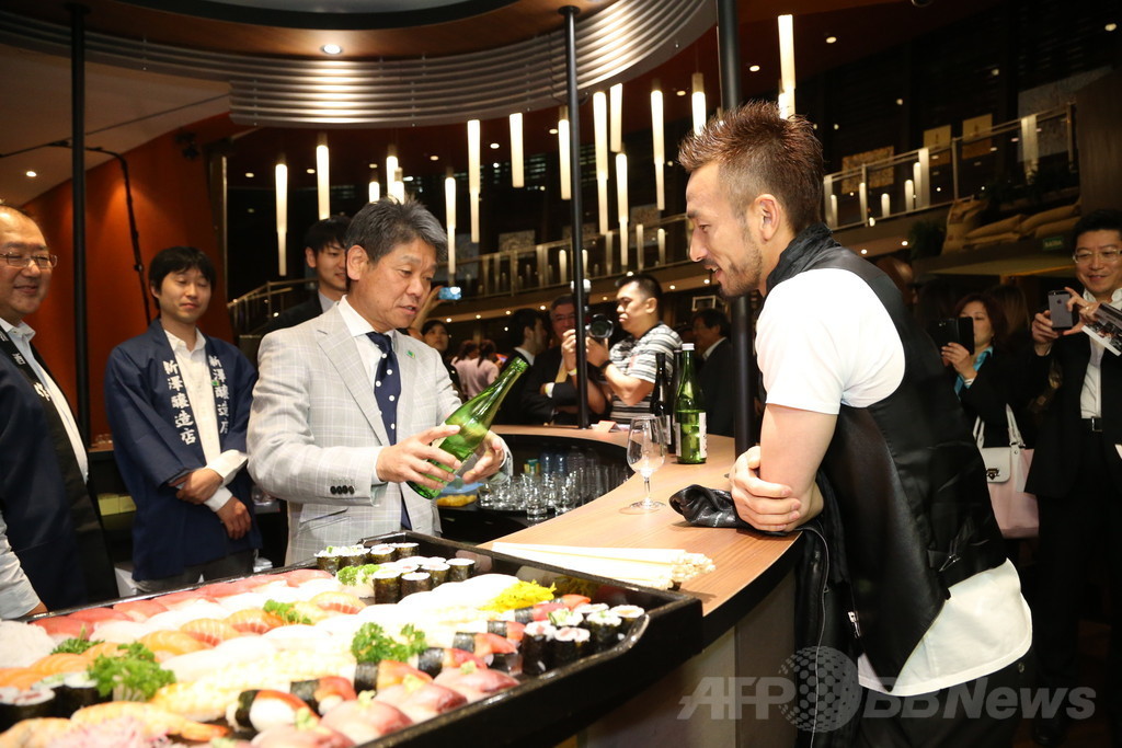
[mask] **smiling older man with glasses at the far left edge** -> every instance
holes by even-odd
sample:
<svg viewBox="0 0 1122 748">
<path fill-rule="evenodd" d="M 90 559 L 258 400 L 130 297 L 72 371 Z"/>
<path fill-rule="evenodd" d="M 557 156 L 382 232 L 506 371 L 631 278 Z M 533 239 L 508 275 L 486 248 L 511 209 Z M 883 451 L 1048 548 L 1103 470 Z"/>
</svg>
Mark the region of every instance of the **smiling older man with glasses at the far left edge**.
<svg viewBox="0 0 1122 748">
<path fill-rule="evenodd" d="M 117 597 L 85 445 L 24 321 L 57 264 L 35 221 L 0 205 L 0 618 Z"/>
</svg>

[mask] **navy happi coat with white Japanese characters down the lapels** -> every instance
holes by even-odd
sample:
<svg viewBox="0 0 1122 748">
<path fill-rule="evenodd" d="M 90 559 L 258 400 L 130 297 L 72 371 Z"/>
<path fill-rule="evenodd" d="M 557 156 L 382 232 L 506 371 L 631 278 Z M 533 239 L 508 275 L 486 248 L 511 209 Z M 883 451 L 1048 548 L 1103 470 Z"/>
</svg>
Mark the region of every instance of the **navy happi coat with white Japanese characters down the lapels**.
<svg viewBox="0 0 1122 748">
<path fill-rule="evenodd" d="M 246 427 L 257 373 L 233 345 L 206 338 L 222 451 L 246 451 Z M 159 320 L 109 357 L 105 410 L 113 432 L 113 454 L 136 502 L 132 524 L 132 576 L 163 579 L 184 567 L 246 548 L 259 548 L 256 518 L 249 533 L 231 539 L 205 505 L 175 497 L 168 481 L 206 464 L 194 413 L 178 376 L 175 353 Z M 245 468 L 227 484 L 250 516 L 251 481 Z"/>
</svg>

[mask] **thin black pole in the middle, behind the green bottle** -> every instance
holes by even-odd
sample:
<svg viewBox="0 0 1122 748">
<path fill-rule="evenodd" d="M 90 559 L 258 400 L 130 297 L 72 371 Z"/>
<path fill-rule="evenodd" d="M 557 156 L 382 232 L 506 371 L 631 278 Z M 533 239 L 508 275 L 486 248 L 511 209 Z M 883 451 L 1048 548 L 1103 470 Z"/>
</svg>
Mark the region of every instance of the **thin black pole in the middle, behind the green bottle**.
<svg viewBox="0 0 1122 748">
<path fill-rule="evenodd" d="M 565 84 L 569 93 L 569 195 L 572 209 L 572 297 L 577 304 L 577 425 L 588 428 L 588 352 L 585 349 L 585 210 L 580 201 L 580 101 L 577 99 L 577 13 L 572 6 L 564 16 Z"/>
</svg>

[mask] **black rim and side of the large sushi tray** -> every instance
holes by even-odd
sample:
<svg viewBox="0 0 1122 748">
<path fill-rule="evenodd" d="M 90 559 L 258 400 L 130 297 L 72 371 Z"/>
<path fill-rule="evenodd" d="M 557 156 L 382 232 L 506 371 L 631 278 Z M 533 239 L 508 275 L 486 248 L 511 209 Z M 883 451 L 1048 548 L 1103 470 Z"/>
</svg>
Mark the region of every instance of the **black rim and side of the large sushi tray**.
<svg viewBox="0 0 1122 748">
<path fill-rule="evenodd" d="M 543 675 L 519 676 L 521 683 L 513 689 L 366 744 L 371 748 L 555 746 L 611 704 L 638 694 L 701 650 L 701 601 L 692 595 L 626 584 L 412 532 L 362 541 L 365 545 L 407 542 L 419 544 L 419 555 L 471 558 L 476 574 L 511 574 L 544 585 L 559 578 L 573 580 L 592 602 L 640 606 L 645 615 L 610 649 Z"/>
</svg>

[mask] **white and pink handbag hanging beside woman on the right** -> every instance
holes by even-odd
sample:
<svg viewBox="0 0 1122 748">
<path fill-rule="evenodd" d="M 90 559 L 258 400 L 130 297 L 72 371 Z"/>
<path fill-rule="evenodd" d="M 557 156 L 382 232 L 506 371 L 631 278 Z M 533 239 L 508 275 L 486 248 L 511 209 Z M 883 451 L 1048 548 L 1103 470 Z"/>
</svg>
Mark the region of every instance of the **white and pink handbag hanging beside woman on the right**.
<svg viewBox="0 0 1122 748">
<path fill-rule="evenodd" d="M 1005 419 L 1009 423 L 1009 446 L 982 446 L 985 443 L 985 427 L 981 418 L 974 424 L 974 438 L 985 463 L 990 500 L 1001 534 L 1005 537 L 1034 537 L 1040 527 L 1037 497 L 1024 492 L 1024 480 L 1032 464 L 1032 450 L 1024 446 L 1013 409 L 1008 405 Z"/>
</svg>

